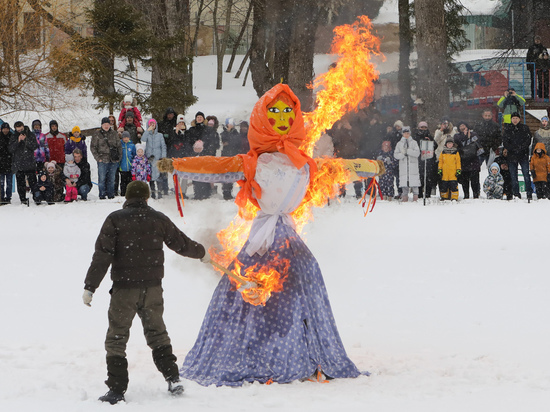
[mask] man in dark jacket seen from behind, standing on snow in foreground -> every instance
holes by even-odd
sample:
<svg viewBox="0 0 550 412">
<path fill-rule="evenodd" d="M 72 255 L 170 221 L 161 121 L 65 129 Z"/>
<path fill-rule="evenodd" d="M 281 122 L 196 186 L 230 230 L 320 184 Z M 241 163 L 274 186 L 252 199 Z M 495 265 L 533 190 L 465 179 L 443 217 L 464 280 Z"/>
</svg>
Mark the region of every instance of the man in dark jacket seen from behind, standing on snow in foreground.
<svg viewBox="0 0 550 412">
<path fill-rule="evenodd" d="M 96 240 L 95 253 L 84 281 L 83 301 L 91 306 L 92 297 L 111 266 L 109 329 L 105 339 L 109 392 L 99 399 L 111 404 L 124 400 L 128 387 L 126 344 L 136 313 L 141 319 L 153 361 L 174 395 L 183 393 L 176 356 L 162 318 L 164 303 L 163 243 L 181 256 L 210 262 L 205 248 L 189 239 L 164 214 L 147 206 L 147 182 L 135 181 L 126 189 L 122 210 L 105 219 Z"/>
</svg>

